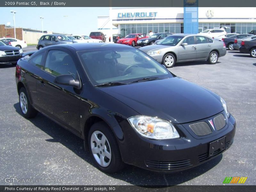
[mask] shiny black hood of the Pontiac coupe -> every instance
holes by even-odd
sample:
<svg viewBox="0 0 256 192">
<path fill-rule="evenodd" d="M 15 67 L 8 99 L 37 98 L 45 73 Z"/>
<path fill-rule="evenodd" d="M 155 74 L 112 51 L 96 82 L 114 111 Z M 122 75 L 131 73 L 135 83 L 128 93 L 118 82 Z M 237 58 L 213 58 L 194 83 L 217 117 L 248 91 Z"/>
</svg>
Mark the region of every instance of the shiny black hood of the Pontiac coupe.
<svg viewBox="0 0 256 192">
<path fill-rule="evenodd" d="M 141 115 L 157 116 L 174 124 L 204 119 L 223 111 L 217 94 L 180 77 L 100 89 Z"/>
</svg>

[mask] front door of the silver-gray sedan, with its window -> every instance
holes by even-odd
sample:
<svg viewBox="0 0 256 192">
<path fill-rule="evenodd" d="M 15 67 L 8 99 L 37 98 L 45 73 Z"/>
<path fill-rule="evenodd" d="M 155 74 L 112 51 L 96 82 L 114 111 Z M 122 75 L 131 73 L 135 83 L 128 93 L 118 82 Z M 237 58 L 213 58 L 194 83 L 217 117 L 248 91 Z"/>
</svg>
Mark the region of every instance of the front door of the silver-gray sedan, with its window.
<svg viewBox="0 0 256 192">
<path fill-rule="evenodd" d="M 182 46 L 181 44 L 187 43 L 188 45 Z M 196 59 L 196 43 L 195 36 L 189 36 L 183 40 L 178 47 L 178 61 L 195 60 Z"/>
</svg>

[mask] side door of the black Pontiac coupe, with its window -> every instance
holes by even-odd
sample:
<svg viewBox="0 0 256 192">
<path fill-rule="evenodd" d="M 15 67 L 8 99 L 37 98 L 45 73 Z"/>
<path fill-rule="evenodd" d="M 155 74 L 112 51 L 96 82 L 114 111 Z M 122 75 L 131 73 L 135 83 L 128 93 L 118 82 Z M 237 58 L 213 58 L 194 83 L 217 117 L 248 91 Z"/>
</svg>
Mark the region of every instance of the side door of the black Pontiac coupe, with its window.
<svg viewBox="0 0 256 192">
<path fill-rule="evenodd" d="M 75 63 L 79 61 L 67 49 L 50 49 L 46 56 L 44 72 L 37 81 L 36 88 L 42 112 L 79 135 L 81 91 L 73 86 L 54 82 L 57 76 L 65 74 L 71 74 L 75 79 L 80 80 Z"/>
</svg>

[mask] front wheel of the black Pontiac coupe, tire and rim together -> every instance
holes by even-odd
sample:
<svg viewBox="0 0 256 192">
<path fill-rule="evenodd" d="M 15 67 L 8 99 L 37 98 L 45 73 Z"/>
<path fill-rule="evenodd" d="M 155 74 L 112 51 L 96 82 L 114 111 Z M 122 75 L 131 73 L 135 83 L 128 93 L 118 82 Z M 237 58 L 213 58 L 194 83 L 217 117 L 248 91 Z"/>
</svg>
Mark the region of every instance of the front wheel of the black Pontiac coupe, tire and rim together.
<svg viewBox="0 0 256 192">
<path fill-rule="evenodd" d="M 115 173 L 124 167 L 116 138 L 103 122 L 92 125 L 88 144 L 92 158 L 101 171 Z"/>
</svg>

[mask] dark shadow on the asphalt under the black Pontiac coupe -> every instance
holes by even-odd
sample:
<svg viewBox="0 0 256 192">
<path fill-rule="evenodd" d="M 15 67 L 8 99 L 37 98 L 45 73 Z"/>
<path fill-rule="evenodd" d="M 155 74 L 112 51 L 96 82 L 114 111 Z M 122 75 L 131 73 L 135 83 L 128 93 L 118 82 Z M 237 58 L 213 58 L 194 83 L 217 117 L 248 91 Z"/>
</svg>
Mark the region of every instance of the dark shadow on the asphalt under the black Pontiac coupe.
<svg viewBox="0 0 256 192">
<path fill-rule="evenodd" d="M 16 109 L 16 112 L 21 115 L 19 103 L 15 103 L 13 107 Z M 90 153 L 88 151 L 84 151 L 83 140 L 81 138 L 74 134 L 70 134 L 68 130 L 56 124 L 41 113 L 38 113 L 35 118 L 29 119 L 29 121 L 33 123 L 37 128 L 41 129 L 43 132 L 52 137 L 52 139 L 47 139 L 46 141 L 59 142 L 60 144 L 74 152 L 77 156 L 85 160 L 87 163 L 96 167 L 96 164 L 93 162 Z M 176 173 L 155 173 L 141 169 L 139 167 L 135 167 L 133 165 L 126 165 L 124 170 L 122 170 L 121 172 L 106 175 L 118 180 L 123 180 L 132 185 L 159 188 L 159 186 L 164 187 L 178 185 L 186 181 L 192 180 L 211 170 L 213 167 L 219 164 L 221 159 L 222 154 L 204 164 Z"/>
</svg>

